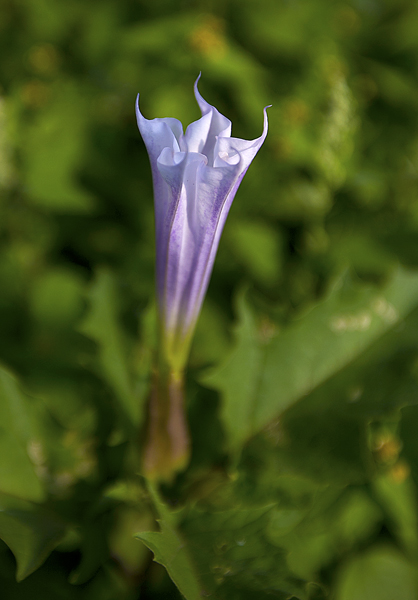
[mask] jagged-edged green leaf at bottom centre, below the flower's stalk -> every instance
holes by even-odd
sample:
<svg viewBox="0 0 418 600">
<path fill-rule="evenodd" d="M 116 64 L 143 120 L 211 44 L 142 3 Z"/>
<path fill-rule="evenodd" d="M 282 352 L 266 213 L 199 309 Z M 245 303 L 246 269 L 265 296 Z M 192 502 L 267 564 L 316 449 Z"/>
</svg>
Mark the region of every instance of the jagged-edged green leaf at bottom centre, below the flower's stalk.
<svg viewBox="0 0 418 600">
<path fill-rule="evenodd" d="M 250 600 L 273 593 L 305 598 L 283 550 L 267 538 L 273 505 L 170 513 L 152 492 L 160 532 L 138 533 L 187 600 Z"/>
</svg>

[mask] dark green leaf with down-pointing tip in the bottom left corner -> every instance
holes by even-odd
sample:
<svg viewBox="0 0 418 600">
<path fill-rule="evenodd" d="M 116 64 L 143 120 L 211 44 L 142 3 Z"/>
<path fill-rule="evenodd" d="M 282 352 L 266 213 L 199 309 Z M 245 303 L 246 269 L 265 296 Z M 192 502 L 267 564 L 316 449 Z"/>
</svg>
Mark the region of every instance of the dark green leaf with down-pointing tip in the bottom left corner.
<svg viewBox="0 0 418 600">
<path fill-rule="evenodd" d="M 41 566 L 64 533 L 64 524 L 42 507 L 15 498 L 0 498 L 0 538 L 16 558 L 18 581 Z"/>
</svg>

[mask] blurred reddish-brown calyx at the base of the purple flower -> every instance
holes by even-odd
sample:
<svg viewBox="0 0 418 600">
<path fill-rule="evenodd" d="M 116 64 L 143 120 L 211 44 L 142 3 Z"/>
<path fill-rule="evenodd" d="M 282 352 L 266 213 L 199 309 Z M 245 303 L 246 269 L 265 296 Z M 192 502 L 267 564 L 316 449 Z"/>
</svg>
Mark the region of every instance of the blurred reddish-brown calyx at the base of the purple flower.
<svg viewBox="0 0 418 600">
<path fill-rule="evenodd" d="M 190 437 L 185 415 L 184 371 L 157 361 L 148 405 L 143 470 L 148 479 L 170 481 L 188 463 Z"/>
</svg>

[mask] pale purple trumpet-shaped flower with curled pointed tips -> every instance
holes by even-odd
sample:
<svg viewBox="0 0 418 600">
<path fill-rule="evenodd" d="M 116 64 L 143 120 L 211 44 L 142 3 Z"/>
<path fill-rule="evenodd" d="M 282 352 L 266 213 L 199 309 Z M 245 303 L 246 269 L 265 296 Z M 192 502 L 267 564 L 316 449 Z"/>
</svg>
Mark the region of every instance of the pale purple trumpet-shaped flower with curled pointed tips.
<svg viewBox="0 0 418 600">
<path fill-rule="evenodd" d="M 177 119 L 145 119 L 138 99 L 136 103 L 154 186 L 161 342 L 167 363 L 179 372 L 187 359 L 229 209 L 267 135 L 264 109 L 259 138 L 231 137 L 231 122 L 202 98 L 198 81 L 194 91 L 202 117 L 185 133 Z"/>
</svg>

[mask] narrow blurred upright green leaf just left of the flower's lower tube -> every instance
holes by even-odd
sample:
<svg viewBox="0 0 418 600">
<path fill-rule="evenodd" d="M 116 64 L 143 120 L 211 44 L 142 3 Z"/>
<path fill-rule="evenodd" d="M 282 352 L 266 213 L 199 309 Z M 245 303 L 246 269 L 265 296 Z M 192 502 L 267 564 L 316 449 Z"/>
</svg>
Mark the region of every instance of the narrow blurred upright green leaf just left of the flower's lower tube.
<svg viewBox="0 0 418 600">
<path fill-rule="evenodd" d="M 89 296 L 90 312 L 80 329 L 99 345 L 101 375 L 114 390 L 132 422 L 138 424 L 140 398 L 134 392 L 119 322 L 115 280 L 110 271 L 102 269 L 97 273 Z"/>
</svg>

